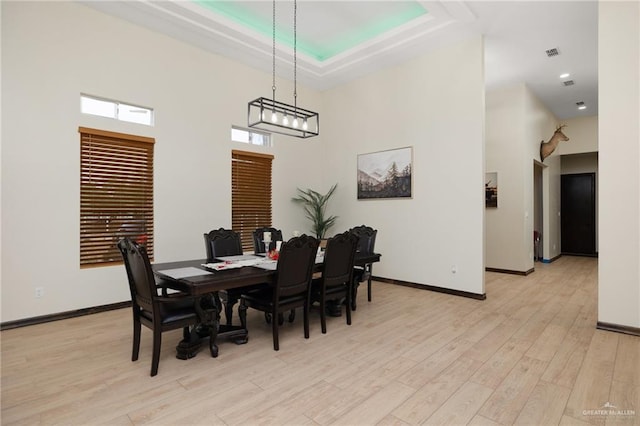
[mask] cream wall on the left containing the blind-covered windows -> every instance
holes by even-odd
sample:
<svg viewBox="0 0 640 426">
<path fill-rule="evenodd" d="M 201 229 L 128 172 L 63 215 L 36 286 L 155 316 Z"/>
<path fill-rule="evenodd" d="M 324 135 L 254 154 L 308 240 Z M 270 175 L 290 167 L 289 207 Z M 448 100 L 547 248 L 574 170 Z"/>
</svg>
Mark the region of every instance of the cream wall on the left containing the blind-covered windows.
<svg viewBox="0 0 640 426">
<path fill-rule="evenodd" d="M 79 268 L 78 126 L 156 138 L 156 261 L 204 257 L 202 234 L 231 225 L 231 150 L 247 148 L 230 127 L 271 95 L 271 75 L 78 3 L 2 2 L 2 89 L 5 322 L 129 299 L 122 266 Z M 278 90 L 292 99 L 290 83 Z M 156 125 L 81 115 L 80 93 L 152 107 Z M 298 87 L 298 100 L 322 113 L 319 93 Z M 275 144 L 274 223 L 290 236 L 307 228 L 291 196 L 322 182 L 325 148 Z"/>
</svg>

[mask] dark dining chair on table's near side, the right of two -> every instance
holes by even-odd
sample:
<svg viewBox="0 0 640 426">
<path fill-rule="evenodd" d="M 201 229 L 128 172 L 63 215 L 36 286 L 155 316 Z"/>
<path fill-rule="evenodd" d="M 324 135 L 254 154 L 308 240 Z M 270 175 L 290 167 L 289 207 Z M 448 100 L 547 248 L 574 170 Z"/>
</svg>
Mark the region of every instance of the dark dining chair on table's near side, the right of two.
<svg viewBox="0 0 640 426">
<path fill-rule="evenodd" d="M 322 276 L 313 280 L 311 301 L 320 302 L 322 333 L 327 332 L 327 300 L 338 300 L 340 309 L 346 299 L 347 324 L 351 325 L 351 297 L 353 294 L 353 268 L 359 237 L 353 232 L 343 232 L 327 240 L 324 250 Z"/>
</svg>

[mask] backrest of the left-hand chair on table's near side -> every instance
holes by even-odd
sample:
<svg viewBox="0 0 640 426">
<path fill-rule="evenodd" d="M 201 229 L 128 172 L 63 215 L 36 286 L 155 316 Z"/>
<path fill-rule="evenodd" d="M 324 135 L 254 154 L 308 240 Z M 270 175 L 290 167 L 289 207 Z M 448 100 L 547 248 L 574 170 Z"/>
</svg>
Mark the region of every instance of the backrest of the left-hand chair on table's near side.
<svg viewBox="0 0 640 426">
<path fill-rule="evenodd" d="M 273 292 L 274 303 L 283 297 L 308 290 L 317 252 L 318 240 L 305 234 L 282 243 Z"/>
</svg>

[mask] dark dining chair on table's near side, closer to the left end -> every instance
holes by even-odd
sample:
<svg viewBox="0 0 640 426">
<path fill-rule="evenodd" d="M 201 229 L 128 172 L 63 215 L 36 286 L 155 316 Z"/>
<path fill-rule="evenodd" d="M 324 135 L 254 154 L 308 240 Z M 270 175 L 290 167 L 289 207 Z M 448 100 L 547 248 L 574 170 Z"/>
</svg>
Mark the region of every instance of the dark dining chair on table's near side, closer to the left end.
<svg viewBox="0 0 640 426">
<path fill-rule="evenodd" d="M 243 328 L 247 328 L 247 309 L 253 308 L 278 318 L 284 312 L 299 307 L 304 312 L 304 337 L 309 338 L 309 306 L 311 275 L 318 251 L 318 240 L 308 235 L 293 237 L 280 248 L 276 277 L 272 285 L 243 294 L 238 313 Z M 273 349 L 279 350 L 280 321 L 271 321 Z"/>
</svg>

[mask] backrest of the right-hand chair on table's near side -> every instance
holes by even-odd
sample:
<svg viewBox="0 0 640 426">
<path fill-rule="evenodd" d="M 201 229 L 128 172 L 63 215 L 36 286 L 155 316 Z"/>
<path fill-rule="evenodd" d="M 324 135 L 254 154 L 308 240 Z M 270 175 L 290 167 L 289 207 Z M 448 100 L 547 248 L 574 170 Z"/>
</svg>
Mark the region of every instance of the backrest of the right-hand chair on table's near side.
<svg viewBox="0 0 640 426">
<path fill-rule="evenodd" d="M 358 235 L 349 231 L 337 234 L 327 240 L 322 270 L 322 279 L 327 287 L 351 281 L 358 240 Z"/>
</svg>

